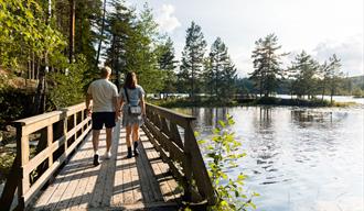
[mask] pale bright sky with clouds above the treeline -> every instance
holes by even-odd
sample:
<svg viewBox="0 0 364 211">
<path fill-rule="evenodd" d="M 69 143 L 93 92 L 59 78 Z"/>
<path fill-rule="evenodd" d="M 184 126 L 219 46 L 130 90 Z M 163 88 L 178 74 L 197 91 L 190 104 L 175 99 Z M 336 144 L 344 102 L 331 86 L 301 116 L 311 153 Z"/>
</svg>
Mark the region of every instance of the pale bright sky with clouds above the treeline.
<svg viewBox="0 0 364 211">
<path fill-rule="evenodd" d="M 146 1 L 126 0 L 140 11 Z M 278 36 L 287 64 L 302 49 L 320 63 L 336 54 L 349 76 L 363 75 L 363 0 L 149 0 L 161 33 L 174 42 L 176 57 L 194 21 L 211 44 L 220 36 L 245 77 L 253 71 L 255 41 Z"/>
</svg>

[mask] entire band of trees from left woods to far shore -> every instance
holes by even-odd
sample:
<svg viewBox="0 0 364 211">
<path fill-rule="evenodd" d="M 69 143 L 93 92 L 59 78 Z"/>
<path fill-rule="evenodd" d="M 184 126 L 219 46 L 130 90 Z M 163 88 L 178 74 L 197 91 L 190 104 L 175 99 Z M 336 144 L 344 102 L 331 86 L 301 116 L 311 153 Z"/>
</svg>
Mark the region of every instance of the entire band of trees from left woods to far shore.
<svg viewBox="0 0 364 211">
<path fill-rule="evenodd" d="M 232 101 L 239 95 L 299 98 L 321 95 L 363 96 L 360 77 L 347 77 L 334 53 L 320 64 L 304 49 L 291 64 L 290 53 L 272 33 L 255 42 L 254 71 L 242 78 L 221 37 L 208 46 L 195 22 L 185 31 L 181 58 L 173 41 L 160 33 L 153 11 L 121 0 L 0 0 L 0 122 L 43 113 L 84 100 L 101 65 L 124 74 L 136 71 L 147 93 L 185 93 Z M 13 99 L 13 100 L 9 100 Z"/>
</svg>

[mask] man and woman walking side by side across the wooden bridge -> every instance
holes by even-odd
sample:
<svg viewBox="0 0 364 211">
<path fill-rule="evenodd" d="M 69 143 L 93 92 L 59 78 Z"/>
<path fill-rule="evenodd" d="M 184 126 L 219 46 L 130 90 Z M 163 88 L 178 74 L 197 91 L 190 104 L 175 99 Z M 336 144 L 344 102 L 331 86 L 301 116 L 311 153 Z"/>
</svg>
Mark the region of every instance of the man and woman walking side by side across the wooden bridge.
<svg viewBox="0 0 364 211">
<path fill-rule="evenodd" d="M 128 158 L 131 158 L 131 140 L 133 142 L 133 155 L 138 155 L 139 127 L 143 123 L 146 115 L 144 90 L 137 82 L 137 75 L 128 73 L 124 87 L 118 93 L 117 87 L 109 81 L 111 69 L 103 67 L 101 78 L 93 81 L 87 90 L 86 109 L 92 115 L 93 122 L 93 146 L 94 165 L 99 165 L 98 142 L 100 130 L 106 127 L 106 152 L 105 158 L 111 156 L 111 135 L 116 122 L 122 115 L 122 126 L 126 127 L 126 141 L 128 146 Z M 90 100 L 93 104 L 90 108 Z M 135 111 L 131 111 L 131 109 Z M 122 110 L 122 111 L 121 111 Z"/>
</svg>

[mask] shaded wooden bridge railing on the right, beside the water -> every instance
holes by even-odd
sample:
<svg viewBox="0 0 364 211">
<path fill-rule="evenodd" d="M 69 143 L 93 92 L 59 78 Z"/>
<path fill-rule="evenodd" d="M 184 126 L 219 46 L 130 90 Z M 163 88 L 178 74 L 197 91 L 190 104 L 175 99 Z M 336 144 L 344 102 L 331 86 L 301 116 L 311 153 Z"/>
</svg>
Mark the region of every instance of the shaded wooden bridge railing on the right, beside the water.
<svg viewBox="0 0 364 211">
<path fill-rule="evenodd" d="M 142 129 L 183 187 L 186 200 L 213 204 L 214 190 L 192 130 L 195 118 L 149 103 L 146 111 Z"/>
</svg>

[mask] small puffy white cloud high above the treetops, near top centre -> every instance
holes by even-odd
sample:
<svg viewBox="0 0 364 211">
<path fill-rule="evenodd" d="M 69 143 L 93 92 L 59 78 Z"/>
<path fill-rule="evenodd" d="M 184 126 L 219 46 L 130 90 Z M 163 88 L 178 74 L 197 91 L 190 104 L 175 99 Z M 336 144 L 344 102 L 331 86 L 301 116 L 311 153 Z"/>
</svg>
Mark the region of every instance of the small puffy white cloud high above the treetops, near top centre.
<svg viewBox="0 0 364 211">
<path fill-rule="evenodd" d="M 172 4 L 163 4 L 157 15 L 157 23 L 162 32 L 172 33 L 174 29 L 181 25 L 180 21 L 174 16 L 174 7 Z"/>
</svg>

